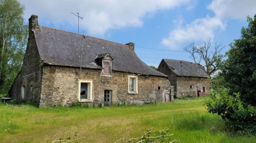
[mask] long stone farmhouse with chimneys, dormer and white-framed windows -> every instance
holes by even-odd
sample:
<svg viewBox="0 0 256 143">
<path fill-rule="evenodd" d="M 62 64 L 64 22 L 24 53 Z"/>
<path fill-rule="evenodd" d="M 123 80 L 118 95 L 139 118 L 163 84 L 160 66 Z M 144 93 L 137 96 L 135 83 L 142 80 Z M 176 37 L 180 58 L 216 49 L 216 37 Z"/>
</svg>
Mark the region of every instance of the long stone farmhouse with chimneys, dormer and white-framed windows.
<svg viewBox="0 0 256 143">
<path fill-rule="evenodd" d="M 32 15 L 23 66 L 9 97 L 37 101 L 39 107 L 71 106 L 75 101 L 140 105 L 170 101 L 171 90 L 167 75 L 137 57 L 134 43 L 40 26 L 38 16 Z"/>
</svg>

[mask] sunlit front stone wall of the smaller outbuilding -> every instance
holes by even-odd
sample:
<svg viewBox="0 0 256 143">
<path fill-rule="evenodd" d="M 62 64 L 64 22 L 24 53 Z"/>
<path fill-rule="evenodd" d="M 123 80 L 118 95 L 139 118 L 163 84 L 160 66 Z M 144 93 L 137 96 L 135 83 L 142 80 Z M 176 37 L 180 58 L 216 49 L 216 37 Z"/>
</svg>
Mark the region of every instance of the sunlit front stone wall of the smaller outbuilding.
<svg viewBox="0 0 256 143">
<path fill-rule="evenodd" d="M 190 85 L 192 88 L 190 88 Z M 202 77 L 183 77 L 177 76 L 177 97 L 196 97 L 197 86 L 201 87 L 201 92 L 203 92 L 203 87 L 205 87 L 205 94 L 210 91 L 209 81 L 207 78 Z"/>
</svg>

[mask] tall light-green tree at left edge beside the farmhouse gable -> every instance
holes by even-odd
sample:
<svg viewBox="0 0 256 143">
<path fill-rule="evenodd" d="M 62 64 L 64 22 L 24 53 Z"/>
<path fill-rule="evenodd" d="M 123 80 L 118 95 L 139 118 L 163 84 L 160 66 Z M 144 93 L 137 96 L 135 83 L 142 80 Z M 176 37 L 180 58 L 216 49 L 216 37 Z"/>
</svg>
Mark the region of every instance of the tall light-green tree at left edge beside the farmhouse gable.
<svg viewBox="0 0 256 143">
<path fill-rule="evenodd" d="M 0 94 L 8 92 L 22 66 L 28 36 L 24 10 L 17 0 L 0 0 Z"/>
</svg>

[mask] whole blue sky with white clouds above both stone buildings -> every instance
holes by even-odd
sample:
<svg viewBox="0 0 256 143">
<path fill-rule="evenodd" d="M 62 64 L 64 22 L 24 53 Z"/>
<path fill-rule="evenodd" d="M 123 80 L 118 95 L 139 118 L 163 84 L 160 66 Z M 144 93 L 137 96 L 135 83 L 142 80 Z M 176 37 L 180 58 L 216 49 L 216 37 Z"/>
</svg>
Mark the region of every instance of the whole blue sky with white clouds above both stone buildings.
<svg viewBox="0 0 256 143">
<path fill-rule="evenodd" d="M 26 10 L 38 15 L 39 25 L 78 32 L 126 44 L 148 65 L 161 59 L 191 61 L 183 51 L 188 44 L 207 39 L 226 45 L 240 37 L 247 27 L 246 16 L 256 14 L 256 0 L 20 0 Z M 141 48 L 146 47 L 146 48 Z M 162 51 L 174 50 L 174 51 Z"/>
</svg>

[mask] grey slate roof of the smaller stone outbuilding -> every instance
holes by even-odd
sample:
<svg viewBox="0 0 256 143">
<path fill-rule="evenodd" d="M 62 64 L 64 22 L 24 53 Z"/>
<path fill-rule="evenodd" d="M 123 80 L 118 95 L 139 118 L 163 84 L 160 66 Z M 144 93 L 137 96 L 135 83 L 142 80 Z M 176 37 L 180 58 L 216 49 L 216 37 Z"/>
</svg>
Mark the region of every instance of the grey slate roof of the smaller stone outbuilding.
<svg viewBox="0 0 256 143">
<path fill-rule="evenodd" d="M 163 61 L 178 76 L 209 77 L 207 72 L 196 63 L 171 59 L 163 59 Z"/>
</svg>

